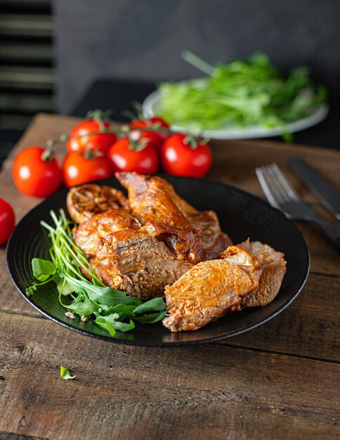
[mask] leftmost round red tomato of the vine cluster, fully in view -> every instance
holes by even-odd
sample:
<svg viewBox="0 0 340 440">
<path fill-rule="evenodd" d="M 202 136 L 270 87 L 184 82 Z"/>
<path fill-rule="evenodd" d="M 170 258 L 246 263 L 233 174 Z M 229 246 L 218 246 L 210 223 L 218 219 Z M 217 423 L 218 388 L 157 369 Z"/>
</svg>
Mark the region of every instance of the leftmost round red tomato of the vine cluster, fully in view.
<svg viewBox="0 0 340 440">
<path fill-rule="evenodd" d="M 48 150 L 28 147 L 13 162 L 12 176 L 22 193 L 34 197 L 47 197 L 61 184 L 61 171 L 57 160 Z"/>
</svg>

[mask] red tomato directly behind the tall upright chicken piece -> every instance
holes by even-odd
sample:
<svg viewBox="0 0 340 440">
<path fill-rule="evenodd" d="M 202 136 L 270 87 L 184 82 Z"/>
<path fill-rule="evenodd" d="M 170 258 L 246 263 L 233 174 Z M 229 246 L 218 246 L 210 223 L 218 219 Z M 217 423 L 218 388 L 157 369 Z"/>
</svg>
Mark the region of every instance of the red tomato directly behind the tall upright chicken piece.
<svg viewBox="0 0 340 440">
<path fill-rule="evenodd" d="M 115 171 L 155 174 L 158 169 L 158 155 L 152 143 L 143 145 L 142 141 L 138 145 L 128 138 L 122 138 L 112 145 L 107 156 Z"/>
</svg>

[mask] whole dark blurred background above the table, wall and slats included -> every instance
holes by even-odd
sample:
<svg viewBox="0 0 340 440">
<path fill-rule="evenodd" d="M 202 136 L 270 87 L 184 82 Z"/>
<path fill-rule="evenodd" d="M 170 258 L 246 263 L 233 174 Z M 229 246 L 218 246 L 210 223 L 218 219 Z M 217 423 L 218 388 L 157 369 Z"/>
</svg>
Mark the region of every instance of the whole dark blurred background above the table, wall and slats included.
<svg viewBox="0 0 340 440">
<path fill-rule="evenodd" d="M 1 0 L 0 156 L 38 111 L 122 119 L 159 80 L 200 76 L 185 48 L 209 63 L 263 51 L 283 72 L 308 65 L 331 112 L 294 140 L 339 148 L 339 0 Z"/>
</svg>

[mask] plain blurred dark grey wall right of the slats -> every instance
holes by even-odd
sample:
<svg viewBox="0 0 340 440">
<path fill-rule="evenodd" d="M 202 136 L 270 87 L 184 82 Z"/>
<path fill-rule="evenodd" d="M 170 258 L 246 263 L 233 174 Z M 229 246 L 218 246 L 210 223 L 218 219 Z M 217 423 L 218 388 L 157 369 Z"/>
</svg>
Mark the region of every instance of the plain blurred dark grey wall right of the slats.
<svg viewBox="0 0 340 440">
<path fill-rule="evenodd" d="M 54 0 L 53 9 L 63 113 L 98 78 L 200 76 L 184 48 L 209 63 L 263 51 L 283 70 L 309 65 L 340 95 L 339 0 Z"/>
</svg>

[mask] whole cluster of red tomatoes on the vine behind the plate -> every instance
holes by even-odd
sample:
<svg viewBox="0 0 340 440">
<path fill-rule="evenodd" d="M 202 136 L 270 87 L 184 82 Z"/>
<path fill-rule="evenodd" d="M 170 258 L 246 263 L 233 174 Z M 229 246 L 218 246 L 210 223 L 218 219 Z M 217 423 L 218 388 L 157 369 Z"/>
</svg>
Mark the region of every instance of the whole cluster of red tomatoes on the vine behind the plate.
<svg viewBox="0 0 340 440">
<path fill-rule="evenodd" d="M 47 197 L 62 183 L 70 188 L 111 177 L 116 171 L 203 177 L 212 155 L 209 145 L 186 134 L 171 133 L 160 117 L 134 119 L 122 129 L 96 115 L 77 124 L 63 140 L 67 153 L 60 168 L 49 148 L 26 148 L 13 163 L 13 181 L 22 193 Z"/>
</svg>

